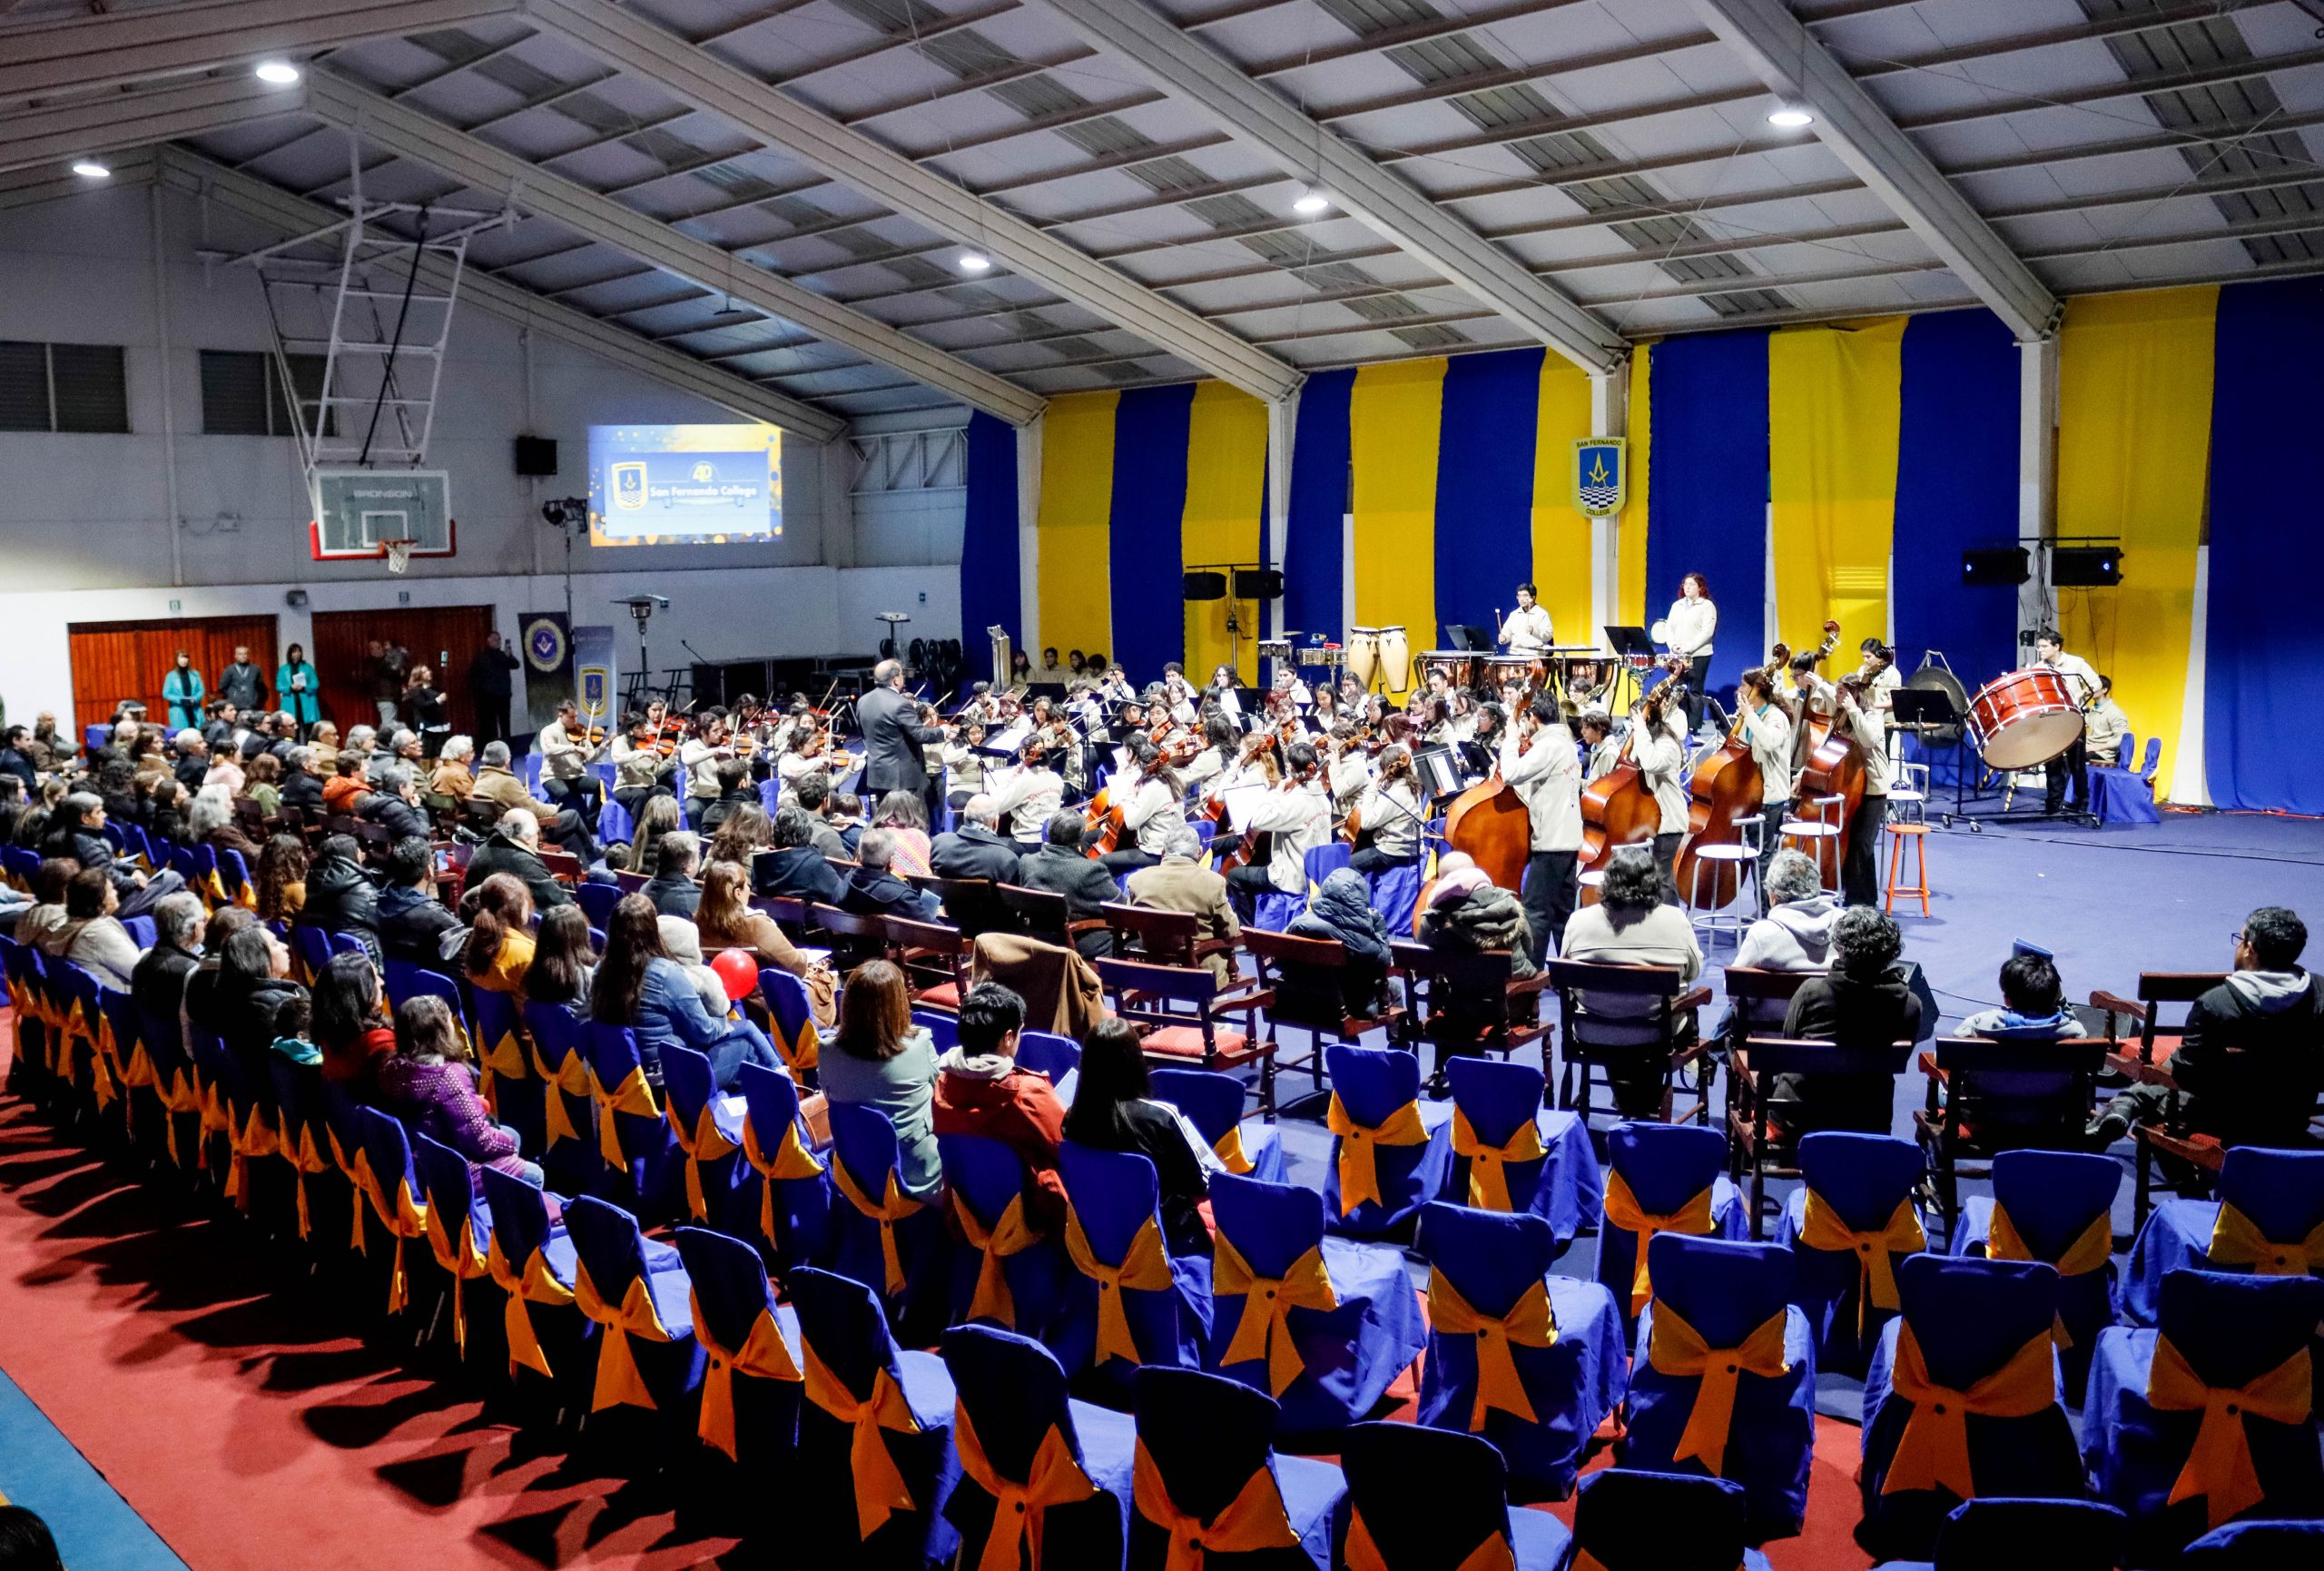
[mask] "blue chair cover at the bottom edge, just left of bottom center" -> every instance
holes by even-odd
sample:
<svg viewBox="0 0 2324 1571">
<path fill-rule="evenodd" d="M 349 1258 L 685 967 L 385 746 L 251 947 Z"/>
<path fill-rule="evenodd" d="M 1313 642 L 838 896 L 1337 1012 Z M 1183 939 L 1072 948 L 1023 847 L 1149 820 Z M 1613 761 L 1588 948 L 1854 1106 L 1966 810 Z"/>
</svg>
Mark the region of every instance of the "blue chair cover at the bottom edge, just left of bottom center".
<svg viewBox="0 0 2324 1571">
<path fill-rule="evenodd" d="M 960 1399 L 955 1425 L 976 1434 L 995 1478 L 1023 1485 L 1041 1446 L 1055 1432 L 1067 1455 L 1097 1487 L 1088 1499 L 1048 1506 L 1041 1518 L 1041 1564 L 1120 1566 L 1129 1538 L 1136 1450 L 1136 1427 L 1129 1415 L 1067 1397 L 1064 1366 L 1030 1336 L 964 1325 L 944 1334 L 941 1355 Z M 955 1429 L 955 1446 L 957 1439 Z M 960 1529 L 962 1566 L 983 1562 L 997 1506 L 999 1501 L 962 1466 L 960 1483 L 944 1506 L 944 1515 Z M 1002 1527 L 1020 1531 L 1013 1522 Z"/>
</svg>

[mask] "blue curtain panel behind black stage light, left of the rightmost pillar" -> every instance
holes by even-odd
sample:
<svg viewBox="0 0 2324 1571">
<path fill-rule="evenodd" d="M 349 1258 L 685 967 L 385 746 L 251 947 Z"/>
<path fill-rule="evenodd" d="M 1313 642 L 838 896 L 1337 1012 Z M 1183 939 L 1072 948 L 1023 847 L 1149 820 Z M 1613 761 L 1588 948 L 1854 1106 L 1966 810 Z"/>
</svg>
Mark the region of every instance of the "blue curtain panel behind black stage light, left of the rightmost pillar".
<svg viewBox="0 0 2324 1571">
<path fill-rule="evenodd" d="M 1906 676 L 1931 648 L 1971 693 L 2017 665 L 2017 590 L 1961 583 L 1961 551 L 2015 539 L 2017 344 L 1992 311 L 1915 316 L 1903 330 L 1889 567 Z"/>
</svg>

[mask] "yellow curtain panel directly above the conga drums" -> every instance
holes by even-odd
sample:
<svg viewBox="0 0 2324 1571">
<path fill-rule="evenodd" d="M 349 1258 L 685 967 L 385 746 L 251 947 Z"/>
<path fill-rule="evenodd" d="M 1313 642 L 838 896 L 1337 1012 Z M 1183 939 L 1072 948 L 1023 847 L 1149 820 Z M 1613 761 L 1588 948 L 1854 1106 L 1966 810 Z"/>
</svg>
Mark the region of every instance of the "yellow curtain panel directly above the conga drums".
<svg viewBox="0 0 2324 1571">
<path fill-rule="evenodd" d="M 1446 363 L 1399 360 L 1355 374 L 1355 620 L 1436 641 L 1436 435 Z"/>
</svg>

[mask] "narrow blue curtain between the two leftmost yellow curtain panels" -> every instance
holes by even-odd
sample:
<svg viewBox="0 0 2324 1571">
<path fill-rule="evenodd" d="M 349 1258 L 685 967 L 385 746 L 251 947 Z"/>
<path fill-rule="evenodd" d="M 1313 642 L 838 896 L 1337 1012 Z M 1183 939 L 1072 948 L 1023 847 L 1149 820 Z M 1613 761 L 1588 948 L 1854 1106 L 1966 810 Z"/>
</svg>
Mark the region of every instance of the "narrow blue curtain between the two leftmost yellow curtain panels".
<svg viewBox="0 0 2324 1571">
<path fill-rule="evenodd" d="M 1192 381 L 1132 388 L 1113 409 L 1111 653 L 1136 683 L 1160 681 L 1164 662 L 1185 660 L 1178 537 L 1192 409 Z"/>
</svg>

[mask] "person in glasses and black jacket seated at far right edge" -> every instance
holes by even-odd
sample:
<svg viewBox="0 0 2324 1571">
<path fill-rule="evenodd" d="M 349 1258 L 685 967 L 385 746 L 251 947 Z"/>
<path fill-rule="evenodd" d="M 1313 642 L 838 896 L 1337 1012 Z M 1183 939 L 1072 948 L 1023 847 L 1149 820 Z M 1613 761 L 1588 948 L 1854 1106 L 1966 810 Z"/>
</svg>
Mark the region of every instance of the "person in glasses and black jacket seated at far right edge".
<svg viewBox="0 0 2324 1571">
<path fill-rule="evenodd" d="M 2308 925 L 2287 906 L 2259 906 L 2236 932 L 2236 969 L 2187 1009 L 2168 1060 L 2185 1092 L 2182 1118 L 2224 1146 L 2308 1146 L 2324 1081 L 2324 992 L 2301 967 Z M 2243 1062 L 2231 1062 L 2240 1055 Z M 2089 1125 L 2094 1150 L 2131 1125 L 2161 1122 L 2166 1085 L 2133 1085 Z"/>
</svg>

